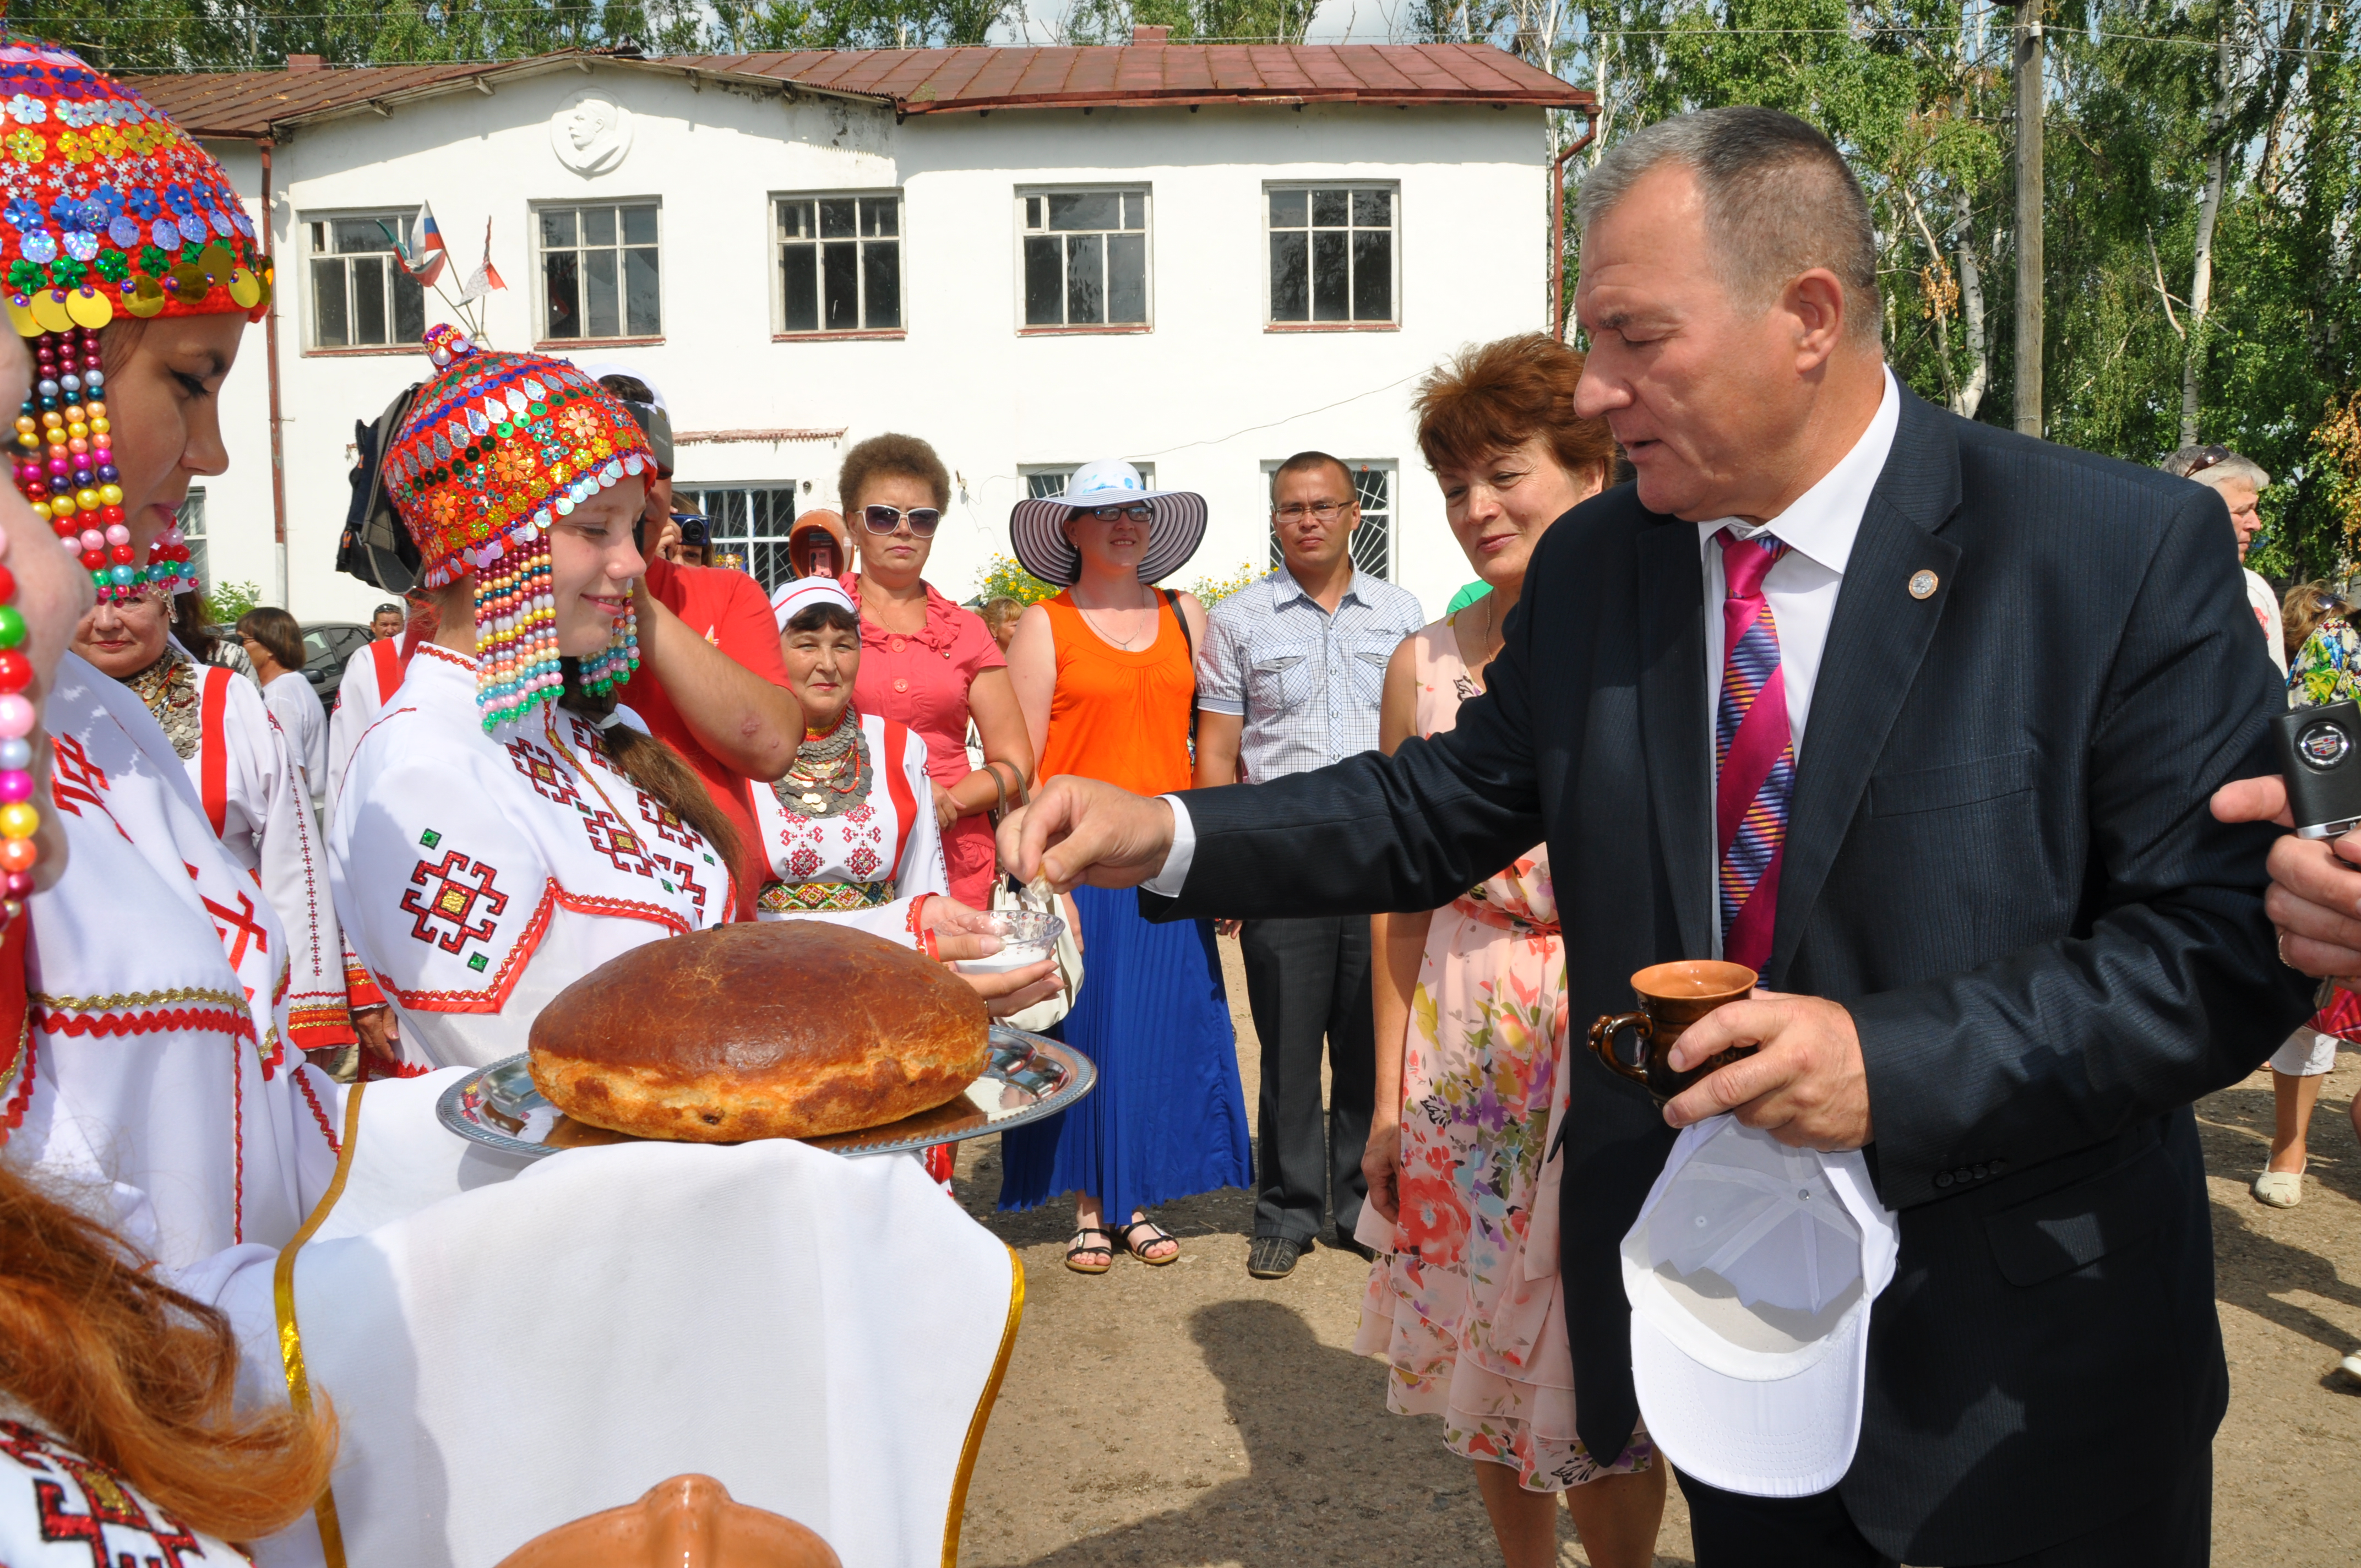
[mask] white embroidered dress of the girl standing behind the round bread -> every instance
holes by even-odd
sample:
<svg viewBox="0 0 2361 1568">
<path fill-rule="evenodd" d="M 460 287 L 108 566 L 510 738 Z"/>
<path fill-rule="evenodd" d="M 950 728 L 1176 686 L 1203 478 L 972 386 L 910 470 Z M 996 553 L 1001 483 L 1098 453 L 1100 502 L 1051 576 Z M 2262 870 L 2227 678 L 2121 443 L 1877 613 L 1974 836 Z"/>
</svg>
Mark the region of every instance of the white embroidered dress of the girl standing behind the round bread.
<svg viewBox="0 0 2361 1568">
<path fill-rule="evenodd" d="M 730 919 L 730 867 L 555 701 L 484 732 L 475 661 L 423 645 L 361 737 L 328 834 L 335 912 L 404 1058 L 524 1051 L 550 997 L 616 954 Z"/>
</svg>

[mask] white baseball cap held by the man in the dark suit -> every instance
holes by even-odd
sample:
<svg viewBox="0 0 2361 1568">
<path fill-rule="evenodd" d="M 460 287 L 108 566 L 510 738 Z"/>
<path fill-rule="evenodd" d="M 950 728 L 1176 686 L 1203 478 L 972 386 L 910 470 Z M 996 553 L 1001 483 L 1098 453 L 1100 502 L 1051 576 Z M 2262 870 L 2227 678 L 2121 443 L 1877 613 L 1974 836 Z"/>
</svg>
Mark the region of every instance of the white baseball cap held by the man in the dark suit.
<svg viewBox="0 0 2361 1568">
<path fill-rule="evenodd" d="M 1631 1386 L 1665 1457 L 1750 1497 L 1837 1485 L 1896 1252 L 1858 1152 L 1787 1148 L 1726 1115 L 1683 1129 L 1622 1240 Z"/>
</svg>

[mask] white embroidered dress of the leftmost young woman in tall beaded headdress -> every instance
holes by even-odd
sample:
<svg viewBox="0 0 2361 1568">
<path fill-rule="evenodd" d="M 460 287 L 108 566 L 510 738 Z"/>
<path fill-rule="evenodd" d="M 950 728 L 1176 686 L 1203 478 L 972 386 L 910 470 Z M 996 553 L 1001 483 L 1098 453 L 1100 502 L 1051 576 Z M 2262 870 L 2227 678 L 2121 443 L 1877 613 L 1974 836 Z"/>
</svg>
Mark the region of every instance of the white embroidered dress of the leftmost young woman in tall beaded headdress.
<svg viewBox="0 0 2361 1568">
<path fill-rule="evenodd" d="M 111 1188 L 113 1223 L 168 1268 L 283 1247 L 335 1167 L 338 1110 L 288 1046 L 279 916 L 123 682 L 66 654 L 45 725 L 68 867 L 28 900 L 0 1152 Z"/>
</svg>

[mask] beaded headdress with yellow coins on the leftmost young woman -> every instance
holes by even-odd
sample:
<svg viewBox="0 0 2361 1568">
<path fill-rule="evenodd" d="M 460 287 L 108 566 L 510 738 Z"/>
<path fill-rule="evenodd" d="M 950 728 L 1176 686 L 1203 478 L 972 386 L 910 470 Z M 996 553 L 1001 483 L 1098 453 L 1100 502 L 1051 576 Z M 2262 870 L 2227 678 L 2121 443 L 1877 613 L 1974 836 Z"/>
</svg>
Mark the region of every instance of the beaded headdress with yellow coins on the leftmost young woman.
<svg viewBox="0 0 2361 1568">
<path fill-rule="evenodd" d="M 118 316 L 255 321 L 269 298 L 269 255 L 205 149 L 66 50 L 0 47 L 0 307 L 35 361 L 17 489 L 104 597 L 198 583 L 177 524 L 135 560 L 99 331 Z"/>
</svg>

